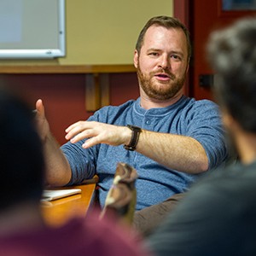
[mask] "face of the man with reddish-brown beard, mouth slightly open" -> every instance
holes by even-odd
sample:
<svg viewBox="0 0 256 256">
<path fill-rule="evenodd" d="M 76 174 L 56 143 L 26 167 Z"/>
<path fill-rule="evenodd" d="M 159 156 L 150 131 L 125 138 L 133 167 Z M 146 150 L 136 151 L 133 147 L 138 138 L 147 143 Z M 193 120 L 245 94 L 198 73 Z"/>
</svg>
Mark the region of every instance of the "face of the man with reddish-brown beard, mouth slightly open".
<svg viewBox="0 0 256 256">
<path fill-rule="evenodd" d="M 188 70 L 187 41 L 182 29 L 150 26 L 134 65 L 141 88 L 151 99 L 165 101 L 181 93 Z"/>
</svg>

